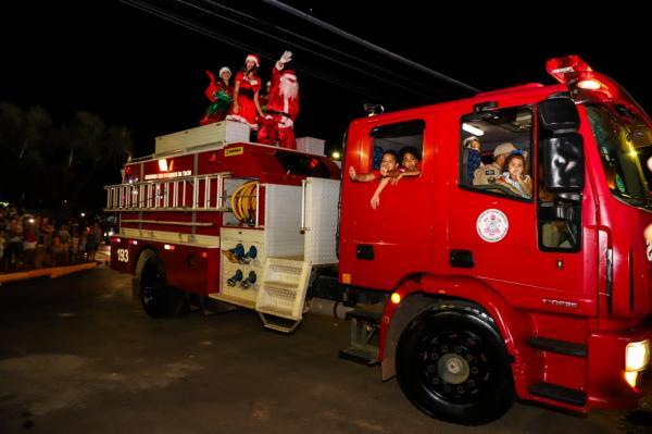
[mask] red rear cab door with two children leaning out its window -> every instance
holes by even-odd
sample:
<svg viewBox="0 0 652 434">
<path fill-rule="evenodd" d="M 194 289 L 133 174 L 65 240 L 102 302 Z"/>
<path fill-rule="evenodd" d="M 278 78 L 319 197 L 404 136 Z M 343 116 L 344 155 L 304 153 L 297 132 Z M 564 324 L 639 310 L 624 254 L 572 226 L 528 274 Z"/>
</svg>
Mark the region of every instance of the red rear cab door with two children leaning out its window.
<svg viewBox="0 0 652 434">
<path fill-rule="evenodd" d="M 342 283 L 371 288 L 391 289 L 411 271 L 423 271 L 430 258 L 430 186 L 434 168 L 432 131 L 425 117 L 389 120 L 371 119 L 350 129 L 342 168 L 342 209 L 340 232 L 340 278 Z M 384 153 L 416 153 L 417 175 L 389 183 L 380 191 L 377 206 L 372 197 L 380 178 L 353 181 L 356 174 L 376 173 Z"/>
</svg>

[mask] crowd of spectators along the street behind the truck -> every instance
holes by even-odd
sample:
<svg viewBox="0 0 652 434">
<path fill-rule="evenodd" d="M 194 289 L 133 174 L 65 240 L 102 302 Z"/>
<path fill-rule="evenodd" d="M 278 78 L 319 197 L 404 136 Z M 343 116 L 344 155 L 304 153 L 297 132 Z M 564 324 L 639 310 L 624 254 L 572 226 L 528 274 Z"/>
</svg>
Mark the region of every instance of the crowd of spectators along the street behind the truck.
<svg viewBox="0 0 652 434">
<path fill-rule="evenodd" d="M 103 239 L 98 222 L 57 221 L 15 207 L 0 208 L 0 272 L 95 261 Z"/>
</svg>

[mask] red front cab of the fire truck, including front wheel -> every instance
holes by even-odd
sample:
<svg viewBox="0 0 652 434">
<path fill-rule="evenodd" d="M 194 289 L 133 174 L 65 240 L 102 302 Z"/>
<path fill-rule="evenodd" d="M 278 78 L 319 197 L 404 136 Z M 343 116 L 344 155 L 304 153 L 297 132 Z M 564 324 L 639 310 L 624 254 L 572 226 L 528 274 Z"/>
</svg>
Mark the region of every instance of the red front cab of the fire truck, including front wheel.
<svg viewBox="0 0 652 434">
<path fill-rule="evenodd" d="M 398 374 L 438 418 L 491 419 L 514 390 L 576 411 L 635 407 L 650 375 L 650 119 L 577 57 L 548 70 L 560 84 L 348 131 L 339 277 L 392 292 L 384 377 Z M 421 176 L 387 186 L 373 209 L 376 185 L 349 168 L 371 172 L 405 147 L 422 154 Z"/>
</svg>

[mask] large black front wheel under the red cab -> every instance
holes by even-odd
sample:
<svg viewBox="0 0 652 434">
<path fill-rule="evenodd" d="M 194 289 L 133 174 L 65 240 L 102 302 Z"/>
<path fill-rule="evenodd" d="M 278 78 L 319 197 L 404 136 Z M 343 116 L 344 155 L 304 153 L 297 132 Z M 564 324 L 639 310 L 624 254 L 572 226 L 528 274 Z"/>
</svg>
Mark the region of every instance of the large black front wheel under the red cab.
<svg viewBox="0 0 652 434">
<path fill-rule="evenodd" d="M 504 343 L 473 310 L 430 311 L 413 320 L 399 340 L 397 375 L 417 408 L 454 423 L 492 421 L 514 401 Z"/>
</svg>

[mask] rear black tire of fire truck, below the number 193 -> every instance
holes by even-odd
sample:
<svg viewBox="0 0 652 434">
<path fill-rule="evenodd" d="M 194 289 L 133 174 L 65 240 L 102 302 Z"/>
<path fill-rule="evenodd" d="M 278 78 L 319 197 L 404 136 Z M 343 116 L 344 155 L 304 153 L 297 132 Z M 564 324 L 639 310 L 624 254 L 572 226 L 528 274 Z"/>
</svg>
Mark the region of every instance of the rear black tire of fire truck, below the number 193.
<svg viewBox="0 0 652 434">
<path fill-rule="evenodd" d="M 180 315 L 187 312 L 185 294 L 165 283 L 165 266 L 156 257 L 150 257 L 142 265 L 138 280 L 142 309 L 153 318 Z"/>
</svg>

